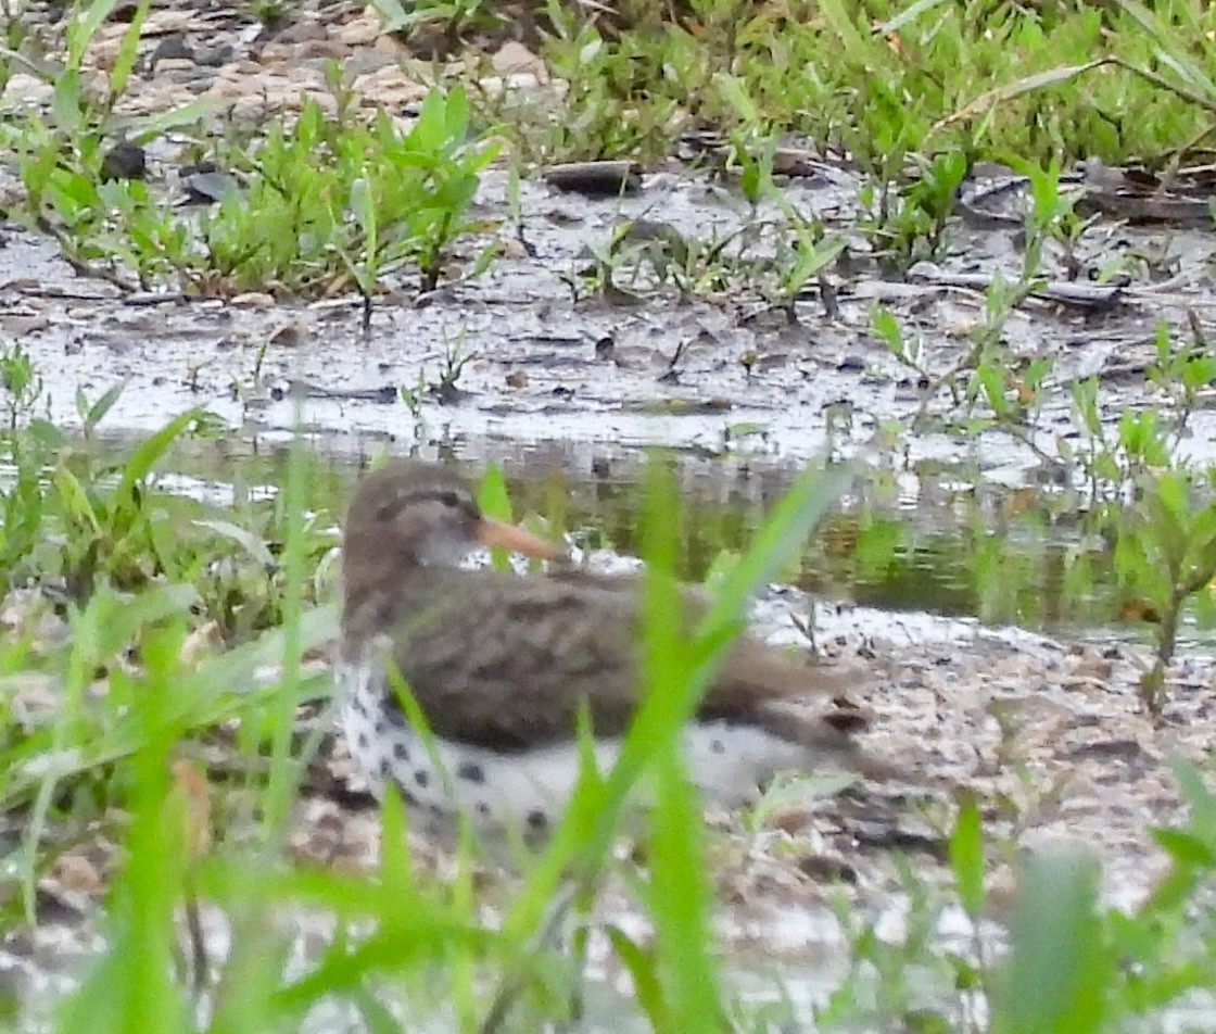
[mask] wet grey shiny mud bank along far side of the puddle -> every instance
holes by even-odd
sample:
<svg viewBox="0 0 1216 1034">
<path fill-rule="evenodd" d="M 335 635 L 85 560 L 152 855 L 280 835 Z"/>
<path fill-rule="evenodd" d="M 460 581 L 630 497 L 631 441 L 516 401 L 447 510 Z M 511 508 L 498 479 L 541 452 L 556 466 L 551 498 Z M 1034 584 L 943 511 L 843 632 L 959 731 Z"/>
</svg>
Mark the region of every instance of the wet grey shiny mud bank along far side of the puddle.
<svg viewBox="0 0 1216 1034">
<path fill-rule="evenodd" d="M 852 224 L 851 191 L 858 185 L 838 173 L 832 181 L 793 181 L 786 196 L 831 231 Z M 503 190 L 503 176 L 489 176 L 480 203 L 505 219 Z M 880 457 L 894 444 L 880 429 L 906 423 L 927 399 L 914 371 L 871 332 L 872 307 L 889 308 L 906 336 L 923 342 L 925 365 L 938 372 L 967 353 L 966 333 L 983 315 L 984 297 L 974 288 L 917 277 L 897 282 L 873 269 L 833 275 L 831 302 L 811 290 L 786 308 L 747 287 L 702 298 L 670 287 L 643 291 L 652 272 L 643 263 L 642 297 L 576 302 L 564 281 L 578 283 L 593 265 L 587 246 L 607 247 L 625 220 L 662 213 L 682 235 L 721 238 L 744 223 L 755 225 L 747 206 L 706 174 L 647 176 L 638 195 L 621 200 L 574 197 L 540 182 L 525 184 L 520 195 L 522 237 L 534 255 L 514 242 L 485 276 L 423 299 L 402 283 L 378 299 L 366 336 L 355 299 L 123 297 L 73 276 L 45 241 L 21 231 L 0 257 L 0 330 L 30 352 L 51 416 L 64 423 L 78 418 L 78 389 L 96 398 L 124 382 L 107 420 L 112 429 L 147 431 L 204 406 L 241 435 L 282 439 L 302 426 L 354 451 L 385 439 L 475 437 L 787 457 L 831 446 Z M 762 255 L 762 227 L 771 230 L 776 212 L 761 208 L 759 218 L 753 251 Z M 1010 276 L 1014 232 L 959 227 L 956 255 L 933 276 Z M 500 236 L 510 237 L 506 226 Z M 1189 333 L 1188 311 L 1200 326 L 1216 311 L 1203 232 L 1099 224 L 1091 236 L 1096 252 L 1160 249 L 1169 236 L 1178 272 L 1166 285 L 1130 286 L 1118 304 L 1097 311 L 1031 300 L 1009 321 L 1006 338 L 1015 359 L 1048 356 L 1055 364 L 1035 421 L 1045 448 L 1057 434 L 1075 433 L 1070 378 L 1102 378 L 1102 401 L 1114 420 L 1125 405 L 1145 401 L 1143 370 L 1155 358 L 1156 326 L 1164 321 Z M 614 274 L 623 285 L 630 275 L 631 268 Z M 460 375 L 451 390 L 426 390 L 454 364 Z M 411 408 L 401 389 L 420 386 Z M 928 400 L 928 411 L 962 415 L 950 411 L 944 392 Z M 1211 429 L 1210 421 L 1198 421 L 1188 449 L 1209 454 Z M 1023 483 L 1035 466 L 1029 449 L 995 432 L 959 446 L 930 427 L 899 448 L 912 465 L 974 459 L 1007 483 Z"/>
</svg>

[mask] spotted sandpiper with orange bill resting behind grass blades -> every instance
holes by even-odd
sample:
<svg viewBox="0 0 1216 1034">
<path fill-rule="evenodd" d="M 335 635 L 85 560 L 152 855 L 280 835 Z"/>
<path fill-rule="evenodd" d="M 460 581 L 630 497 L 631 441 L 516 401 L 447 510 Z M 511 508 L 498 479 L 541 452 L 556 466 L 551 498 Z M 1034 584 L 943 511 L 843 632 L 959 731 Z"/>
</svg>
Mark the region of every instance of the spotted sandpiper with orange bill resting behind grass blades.
<svg viewBox="0 0 1216 1034">
<path fill-rule="evenodd" d="M 576 782 L 580 715 L 604 770 L 638 708 L 641 580 L 463 566 L 482 546 L 563 555 L 483 515 L 450 466 L 390 460 L 360 479 L 343 533 L 342 724 L 373 794 L 395 785 L 415 828 L 450 842 L 462 813 L 478 833 L 534 844 Z M 705 600 L 696 586 L 681 599 L 692 628 Z M 846 698 L 857 679 L 739 635 L 682 730 L 691 781 L 731 809 L 782 770 L 854 769 L 867 726 Z"/>
</svg>

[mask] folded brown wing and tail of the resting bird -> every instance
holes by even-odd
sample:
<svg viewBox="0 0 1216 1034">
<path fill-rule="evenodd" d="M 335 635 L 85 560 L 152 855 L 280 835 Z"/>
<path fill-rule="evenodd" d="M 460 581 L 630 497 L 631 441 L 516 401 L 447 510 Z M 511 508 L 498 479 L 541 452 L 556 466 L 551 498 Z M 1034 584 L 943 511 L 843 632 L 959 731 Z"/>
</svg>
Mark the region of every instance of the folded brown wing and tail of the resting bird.
<svg viewBox="0 0 1216 1034">
<path fill-rule="evenodd" d="M 640 692 L 636 579 L 437 569 L 420 581 L 396 624 L 394 659 L 437 735 L 506 751 L 553 743 L 570 736 L 582 701 L 597 735 L 627 727 Z M 683 601 L 691 633 L 705 601 L 694 589 Z M 699 713 L 839 747 L 865 726 L 832 699 L 854 687 L 851 676 L 793 665 L 741 636 Z"/>
</svg>

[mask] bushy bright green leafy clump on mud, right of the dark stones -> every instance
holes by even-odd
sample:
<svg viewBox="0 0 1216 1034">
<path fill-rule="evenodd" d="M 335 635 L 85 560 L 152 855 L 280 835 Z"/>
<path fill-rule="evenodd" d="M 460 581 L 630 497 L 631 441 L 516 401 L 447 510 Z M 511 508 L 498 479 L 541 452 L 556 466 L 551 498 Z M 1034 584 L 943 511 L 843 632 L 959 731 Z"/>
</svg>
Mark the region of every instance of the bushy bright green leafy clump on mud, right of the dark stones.
<svg viewBox="0 0 1216 1034">
<path fill-rule="evenodd" d="M 289 133 L 271 130 L 250 154 L 244 195 L 225 198 L 203 220 L 206 263 L 182 274 L 199 290 L 278 282 L 303 293 L 333 290 L 345 274 L 364 296 L 365 324 L 388 272 L 412 263 L 420 290 L 433 290 L 452 241 L 482 227 L 465 213 L 496 147 L 469 146 L 467 124 L 458 89 L 432 91 L 405 134 L 384 114 L 364 129 L 305 105 Z M 332 161 L 319 164 L 317 153 Z M 474 269 L 492 254 L 492 246 L 483 249 Z"/>
</svg>

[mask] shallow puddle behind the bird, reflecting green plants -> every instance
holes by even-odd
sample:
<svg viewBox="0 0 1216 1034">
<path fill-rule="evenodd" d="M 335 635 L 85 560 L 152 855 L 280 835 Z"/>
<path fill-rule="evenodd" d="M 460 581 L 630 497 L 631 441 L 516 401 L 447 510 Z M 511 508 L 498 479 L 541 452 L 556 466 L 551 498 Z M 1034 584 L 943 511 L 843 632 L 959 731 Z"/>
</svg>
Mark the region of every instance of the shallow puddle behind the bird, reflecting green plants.
<svg viewBox="0 0 1216 1034">
<path fill-rule="evenodd" d="M 109 437 L 95 449 L 120 461 L 135 439 Z M 680 493 L 681 578 L 702 581 L 724 553 L 745 550 L 804 470 L 776 456 L 699 456 L 689 450 L 643 453 L 547 442 L 503 443 L 461 438 L 443 445 L 382 443 L 362 456 L 313 440 L 305 445 L 309 505 L 340 523 L 361 462 L 381 454 L 412 454 L 467 465 L 477 478 L 497 463 L 516 516 L 539 515 L 564 528 L 580 550 L 642 550 L 641 510 L 648 462 L 672 470 Z M 259 438 L 246 443 L 186 442 L 170 454 L 164 488 L 216 506 L 257 502 L 286 477 L 288 448 Z M 1147 641 L 1120 619 L 1113 553 L 1085 540 L 1073 519 L 1059 519 L 1053 487 L 1007 488 L 974 470 L 925 463 L 897 474 L 858 467 L 850 493 L 812 535 L 782 583 L 827 602 L 891 612 L 973 617 L 986 625 L 1018 625 L 1096 641 Z M 1088 578 L 1071 579 L 1082 557 Z M 1183 642 L 1203 644 L 1198 634 Z"/>
</svg>

